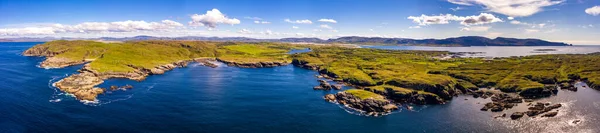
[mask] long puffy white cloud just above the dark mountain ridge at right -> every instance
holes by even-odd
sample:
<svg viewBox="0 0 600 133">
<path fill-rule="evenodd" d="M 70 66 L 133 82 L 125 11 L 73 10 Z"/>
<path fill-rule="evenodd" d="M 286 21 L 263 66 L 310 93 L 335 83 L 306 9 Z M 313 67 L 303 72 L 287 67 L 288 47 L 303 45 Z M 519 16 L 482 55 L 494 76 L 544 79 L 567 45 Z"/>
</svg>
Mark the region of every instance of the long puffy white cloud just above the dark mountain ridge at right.
<svg viewBox="0 0 600 133">
<path fill-rule="evenodd" d="M 409 16 L 408 19 L 412 19 L 414 23 L 417 23 L 421 26 L 432 25 L 432 24 L 448 24 L 450 21 L 461 21 L 460 24 L 465 26 L 470 25 L 481 25 L 495 22 L 503 22 L 502 19 L 489 14 L 489 13 L 481 13 L 477 16 L 456 16 L 452 14 L 446 15 L 438 15 L 438 16 L 428 16 L 421 15 L 418 17 Z"/>
</svg>

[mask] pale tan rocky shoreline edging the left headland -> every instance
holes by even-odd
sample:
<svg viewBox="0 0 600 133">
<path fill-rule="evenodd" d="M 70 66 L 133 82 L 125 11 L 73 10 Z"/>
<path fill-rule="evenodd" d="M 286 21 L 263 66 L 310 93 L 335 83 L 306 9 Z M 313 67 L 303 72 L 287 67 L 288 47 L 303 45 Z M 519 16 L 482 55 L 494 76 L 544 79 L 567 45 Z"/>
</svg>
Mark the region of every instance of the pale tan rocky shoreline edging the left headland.
<svg viewBox="0 0 600 133">
<path fill-rule="evenodd" d="M 89 62 L 86 60 L 74 61 L 68 58 L 54 57 L 55 55 L 60 53 L 51 53 L 45 50 L 47 49 L 32 48 L 23 52 L 23 55 L 47 57 L 46 60 L 44 60 L 40 64 L 40 67 L 44 68 L 63 68 L 67 66 L 80 65 Z M 211 61 L 216 60 L 214 58 L 197 58 L 192 60 L 181 60 L 170 64 L 160 65 L 151 69 L 129 65 L 129 67 L 135 69 L 133 72 L 98 72 L 92 69 L 90 64 L 85 64 L 83 68 L 78 70 L 79 73 L 61 79 L 53 83 L 53 86 L 57 87 L 63 92 L 73 94 L 78 100 L 95 101 L 98 95 L 104 94 L 107 91 L 107 89 L 105 88 L 96 87 L 102 84 L 106 79 L 126 78 L 135 81 L 142 81 L 149 75 L 160 75 L 175 68 L 187 67 L 187 65 L 190 62 L 198 62 L 203 66 L 213 68 L 217 67 L 217 65 L 211 63 Z M 126 90 L 131 88 L 133 88 L 133 86 L 131 85 L 126 85 L 123 87 L 111 86 L 110 90 Z"/>
</svg>

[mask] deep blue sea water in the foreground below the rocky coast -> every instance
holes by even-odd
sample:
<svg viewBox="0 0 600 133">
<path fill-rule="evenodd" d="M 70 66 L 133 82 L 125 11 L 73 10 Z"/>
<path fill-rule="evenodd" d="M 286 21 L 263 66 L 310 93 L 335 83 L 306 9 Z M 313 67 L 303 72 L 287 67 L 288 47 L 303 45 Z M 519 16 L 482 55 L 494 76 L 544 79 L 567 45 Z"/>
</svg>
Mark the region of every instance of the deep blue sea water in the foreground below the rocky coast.
<svg viewBox="0 0 600 133">
<path fill-rule="evenodd" d="M 479 111 L 489 99 L 470 96 L 366 117 L 324 101 L 335 91 L 312 90 L 317 73 L 291 65 L 191 64 L 142 82 L 108 80 L 101 87 L 135 88 L 82 103 L 50 85 L 81 66 L 36 67 L 44 58 L 21 55 L 35 44 L 0 43 L 0 132 L 600 132 L 600 91 L 593 89 L 539 100 L 565 105 L 553 118 L 495 119 L 502 113 Z"/>
</svg>

